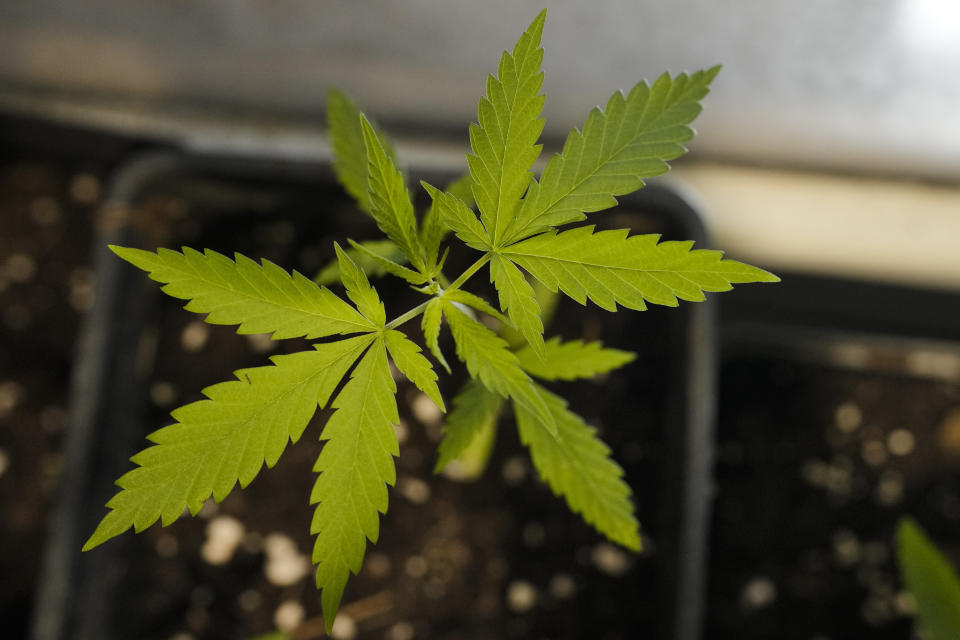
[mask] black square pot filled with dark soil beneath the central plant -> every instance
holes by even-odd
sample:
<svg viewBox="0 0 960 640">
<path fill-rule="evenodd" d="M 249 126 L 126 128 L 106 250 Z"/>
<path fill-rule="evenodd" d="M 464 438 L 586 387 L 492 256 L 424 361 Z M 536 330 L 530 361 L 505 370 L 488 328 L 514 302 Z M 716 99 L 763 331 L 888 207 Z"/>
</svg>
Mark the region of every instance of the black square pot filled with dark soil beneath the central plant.
<svg viewBox="0 0 960 640">
<path fill-rule="evenodd" d="M 450 175 L 422 177 L 442 183 Z M 219 507 L 80 554 L 115 491 L 113 481 L 146 444 L 143 437 L 169 423 L 170 409 L 199 399 L 203 387 L 235 369 L 305 344 L 271 344 L 198 324 L 181 301 L 160 294 L 105 245 L 239 251 L 311 274 L 332 258 L 333 240 L 374 237 L 375 228 L 323 163 L 144 150 L 116 169 L 107 195 L 93 248 L 98 295 L 75 363 L 62 491 L 32 638 L 159 640 L 178 632 L 240 638 L 272 628 L 274 611 L 288 600 L 301 603 L 307 618 L 295 637 L 319 637 L 319 596 L 310 576 L 292 586 L 271 584 L 262 541 L 280 532 L 301 553 L 312 548 L 307 498 L 322 417 L 276 468 L 261 471 Z M 591 222 L 707 246 L 693 209 L 658 187 Z M 418 296 L 402 284 L 376 286 L 388 315 Z M 646 551 L 633 557 L 604 543 L 536 481 L 511 418 L 502 421 L 479 481 L 433 476 L 438 426 L 416 410 L 416 390 L 402 383 L 407 436 L 399 486 L 382 518 L 381 541 L 368 549 L 344 598 L 356 637 L 399 638 L 411 630 L 435 639 L 613 639 L 636 637 L 638 630 L 647 637 L 700 637 L 715 398 L 712 302 L 608 314 L 564 300 L 555 317 L 549 334 L 602 339 L 640 354 L 602 382 L 556 388 L 601 429 L 625 468 Z M 447 399 L 459 381 L 462 373 L 442 377 Z M 247 535 L 227 564 L 212 565 L 200 548 L 205 527 L 223 515 L 241 522 Z M 518 600 L 518 593 L 533 594 L 532 602 Z"/>
</svg>

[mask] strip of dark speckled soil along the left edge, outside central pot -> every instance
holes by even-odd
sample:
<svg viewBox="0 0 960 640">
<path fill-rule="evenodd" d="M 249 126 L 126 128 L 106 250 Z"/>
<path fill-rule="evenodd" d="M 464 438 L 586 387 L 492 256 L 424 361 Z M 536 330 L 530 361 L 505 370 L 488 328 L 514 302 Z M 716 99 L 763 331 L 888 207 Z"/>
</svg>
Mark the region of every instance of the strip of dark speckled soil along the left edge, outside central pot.
<svg viewBox="0 0 960 640">
<path fill-rule="evenodd" d="M 14 638 L 27 633 L 62 466 L 74 339 L 93 296 L 98 171 L 22 156 L 0 164 L 0 620 Z"/>
</svg>

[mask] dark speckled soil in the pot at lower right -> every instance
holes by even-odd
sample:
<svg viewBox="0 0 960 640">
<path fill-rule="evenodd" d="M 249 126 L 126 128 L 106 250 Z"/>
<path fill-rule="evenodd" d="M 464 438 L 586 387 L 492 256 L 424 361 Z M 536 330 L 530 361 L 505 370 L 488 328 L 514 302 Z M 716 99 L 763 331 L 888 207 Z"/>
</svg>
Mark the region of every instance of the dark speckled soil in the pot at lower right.
<svg viewBox="0 0 960 640">
<path fill-rule="evenodd" d="M 908 637 L 895 525 L 960 557 L 960 385 L 741 354 L 721 398 L 710 628 Z"/>
</svg>

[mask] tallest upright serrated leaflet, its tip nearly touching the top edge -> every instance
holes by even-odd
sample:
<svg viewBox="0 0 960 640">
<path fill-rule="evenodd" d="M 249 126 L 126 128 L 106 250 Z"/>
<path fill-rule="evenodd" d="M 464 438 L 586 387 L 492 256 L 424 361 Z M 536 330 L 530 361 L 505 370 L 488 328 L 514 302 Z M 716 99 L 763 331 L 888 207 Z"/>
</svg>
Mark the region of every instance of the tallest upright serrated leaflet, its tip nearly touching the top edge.
<svg viewBox="0 0 960 640">
<path fill-rule="evenodd" d="M 503 52 L 497 75 L 487 78 L 487 95 L 480 99 L 477 119 L 470 125 L 467 156 L 473 178 L 473 197 L 493 246 L 516 215 L 520 199 L 533 177 L 540 156 L 537 139 L 543 130 L 544 98 L 540 95 L 543 49 L 540 37 L 546 10 L 533 21 L 513 48 Z"/>
</svg>

